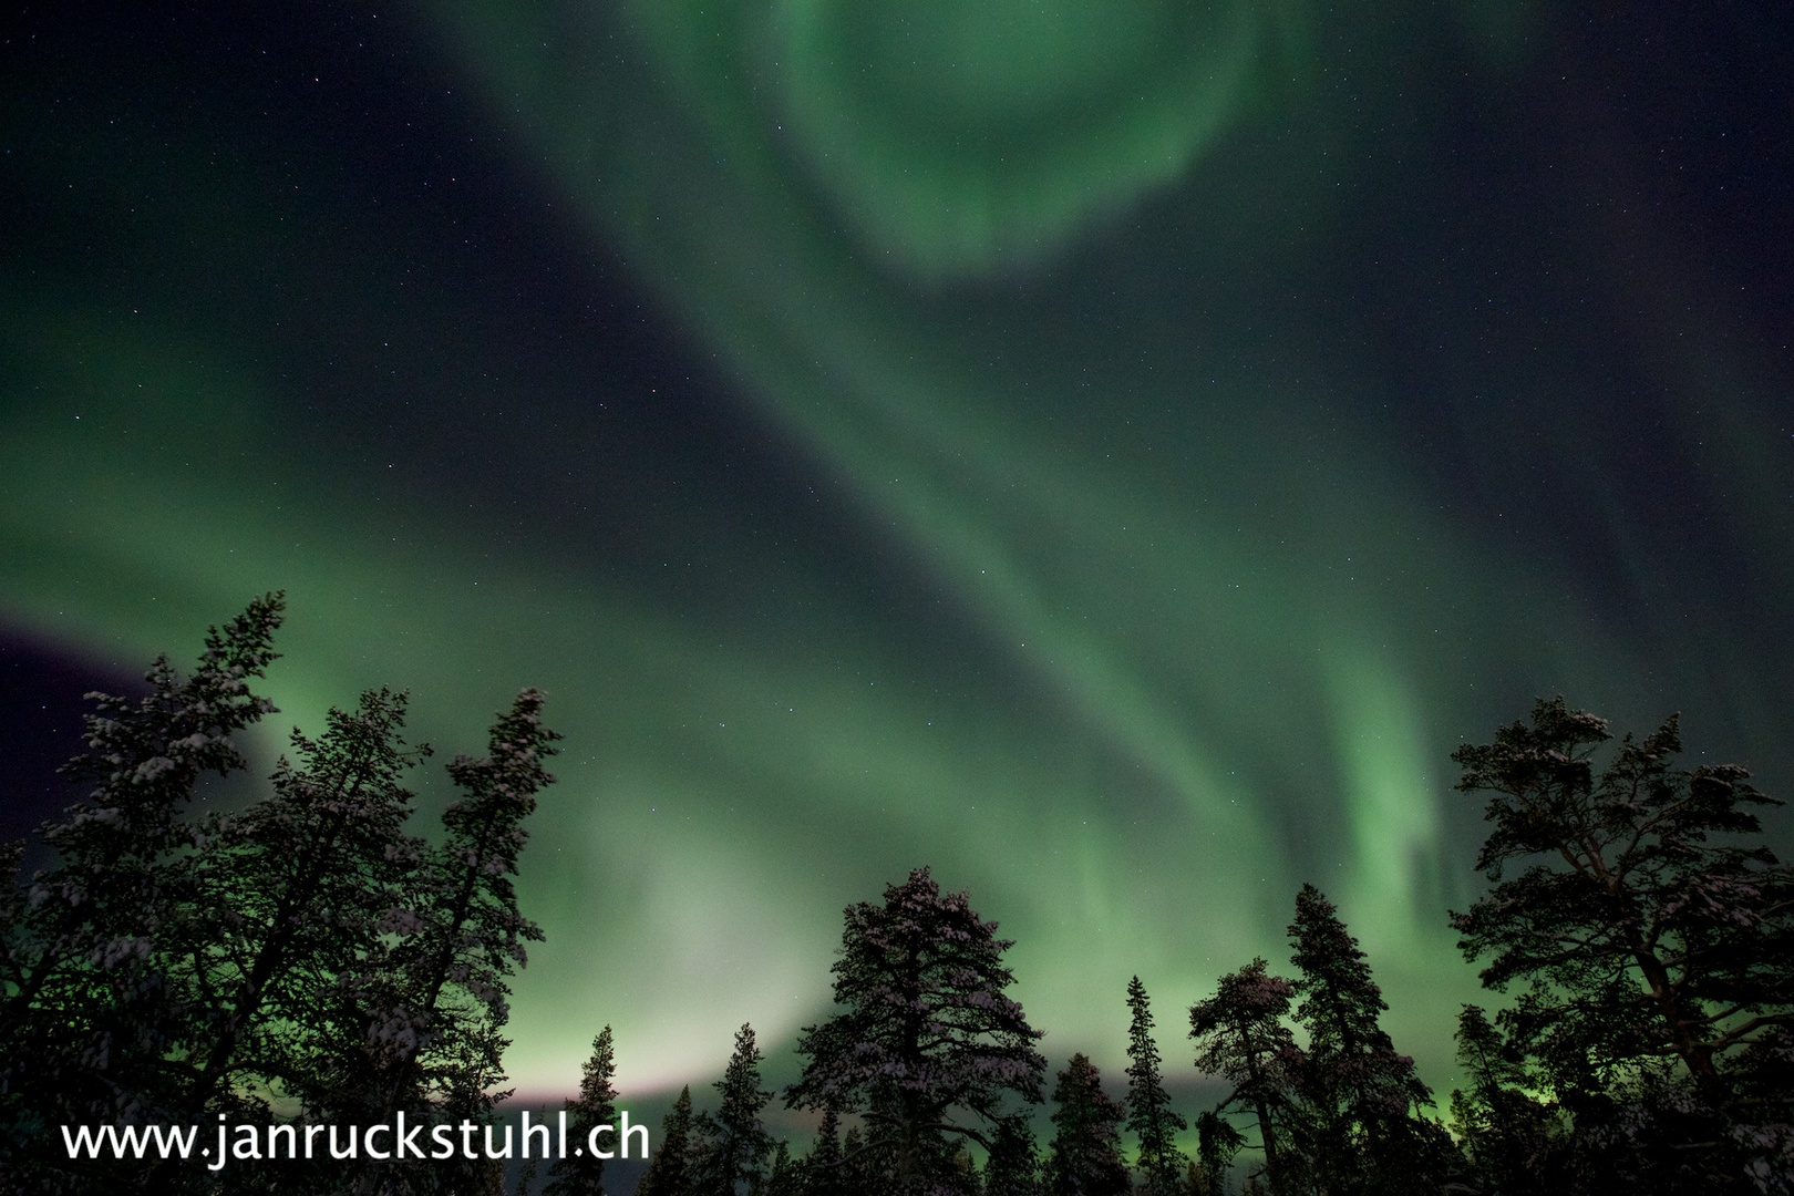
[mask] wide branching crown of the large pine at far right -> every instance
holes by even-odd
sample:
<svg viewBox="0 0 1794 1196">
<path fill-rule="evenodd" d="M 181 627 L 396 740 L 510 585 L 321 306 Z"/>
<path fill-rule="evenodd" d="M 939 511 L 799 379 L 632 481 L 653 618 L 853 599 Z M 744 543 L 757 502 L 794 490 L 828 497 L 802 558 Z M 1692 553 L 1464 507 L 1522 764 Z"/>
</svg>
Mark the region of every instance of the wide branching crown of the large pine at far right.
<svg viewBox="0 0 1794 1196">
<path fill-rule="evenodd" d="M 1749 807 L 1780 805 L 1738 766 L 1677 769 L 1677 719 L 1625 737 L 1597 778 L 1606 721 L 1539 701 L 1451 758 L 1493 794 L 1478 866 L 1494 888 L 1453 914 L 1484 984 L 1530 983 L 1516 1027 L 1624 1067 L 1672 1054 L 1715 1103 L 1726 1063 L 1794 1022 L 1794 877 Z M 1507 870 L 1520 866 L 1520 875 Z M 1600 1017 L 1581 1017 L 1589 1006 Z"/>
</svg>

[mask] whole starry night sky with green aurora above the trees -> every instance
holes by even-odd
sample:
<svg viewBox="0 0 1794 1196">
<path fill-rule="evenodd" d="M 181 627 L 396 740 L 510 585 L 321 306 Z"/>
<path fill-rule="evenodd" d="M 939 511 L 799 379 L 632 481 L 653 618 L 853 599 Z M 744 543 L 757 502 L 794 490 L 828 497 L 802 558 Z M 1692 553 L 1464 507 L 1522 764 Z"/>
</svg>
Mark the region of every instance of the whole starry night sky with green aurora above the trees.
<svg viewBox="0 0 1794 1196">
<path fill-rule="evenodd" d="M 1313 880 L 1448 1085 L 1457 744 L 1561 692 L 1794 793 L 1781 4 L 100 2 L 0 43 L 7 832 L 84 689 L 266 590 L 264 766 L 370 685 L 447 753 L 545 689 L 526 1092 L 605 1022 L 626 1092 L 745 1020 L 786 1051 L 919 864 L 1105 1070 L 1132 974 L 1188 1063 Z"/>
</svg>

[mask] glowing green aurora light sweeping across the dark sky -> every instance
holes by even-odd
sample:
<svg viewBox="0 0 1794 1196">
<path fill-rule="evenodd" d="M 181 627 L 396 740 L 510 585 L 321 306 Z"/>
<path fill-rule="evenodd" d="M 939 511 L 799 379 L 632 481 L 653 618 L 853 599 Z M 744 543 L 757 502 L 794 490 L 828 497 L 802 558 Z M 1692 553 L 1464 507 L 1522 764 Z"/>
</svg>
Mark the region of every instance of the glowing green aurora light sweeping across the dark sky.
<svg viewBox="0 0 1794 1196">
<path fill-rule="evenodd" d="M 1017 940 L 1049 1053 L 1105 1069 L 1128 975 L 1179 1058 L 1177 1010 L 1286 959 L 1313 879 L 1439 1083 L 1476 992 L 1444 925 L 1475 884 L 1459 739 L 1534 692 L 1645 721 L 1769 689 L 1738 644 L 1703 669 L 1602 631 L 1564 561 L 1430 498 L 1351 414 L 1376 393 L 1288 351 L 1311 316 L 1265 296 L 1337 221 L 1358 127 L 1293 0 L 431 13 L 587 235 L 936 608 L 737 543 L 736 590 L 777 597 L 669 610 L 581 536 L 348 481 L 203 328 L 43 289 L 4 312 L 0 613 L 136 662 L 283 586 L 278 726 L 395 683 L 450 751 L 549 690 L 524 1092 L 570 1088 L 605 1022 L 631 1092 L 707 1081 L 743 1020 L 789 1040 L 841 906 L 920 862 Z M 1498 81 L 1518 34 L 1466 27 Z M 1353 41 L 1385 95 L 1424 50 L 1399 43 Z"/>
</svg>

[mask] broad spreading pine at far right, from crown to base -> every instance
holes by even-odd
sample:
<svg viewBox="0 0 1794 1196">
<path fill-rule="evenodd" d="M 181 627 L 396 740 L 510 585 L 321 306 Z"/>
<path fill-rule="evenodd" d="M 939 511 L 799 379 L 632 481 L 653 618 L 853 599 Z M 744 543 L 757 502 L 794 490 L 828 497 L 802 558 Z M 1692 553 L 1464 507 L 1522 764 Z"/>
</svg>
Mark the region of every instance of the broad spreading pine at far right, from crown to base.
<svg viewBox="0 0 1794 1196">
<path fill-rule="evenodd" d="M 1459 947 L 1489 959 L 1487 988 L 1527 984 L 1496 1024 L 1573 1117 L 1588 1171 L 1755 1183 L 1794 1157 L 1774 1045 L 1794 1026 L 1794 870 L 1753 812 L 1778 802 L 1744 767 L 1677 767 L 1674 715 L 1597 775 L 1609 739 L 1557 698 L 1451 755 L 1491 823 L 1491 888 L 1453 914 Z"/>
</svg>

